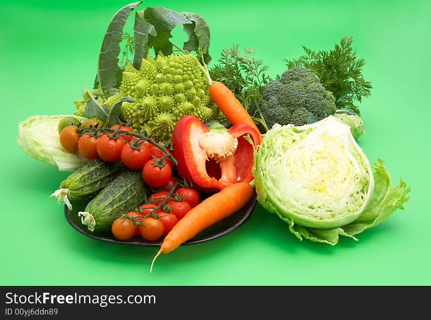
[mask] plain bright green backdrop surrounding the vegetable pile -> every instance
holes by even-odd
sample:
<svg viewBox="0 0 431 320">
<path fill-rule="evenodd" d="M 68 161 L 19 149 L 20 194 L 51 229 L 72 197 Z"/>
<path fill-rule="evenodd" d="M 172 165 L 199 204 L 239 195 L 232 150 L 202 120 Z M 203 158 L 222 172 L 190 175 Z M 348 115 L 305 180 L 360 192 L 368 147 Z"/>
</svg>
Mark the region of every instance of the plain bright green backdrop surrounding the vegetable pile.
<svg viewBox="0 0 431 320">
<path fill-rule="evenodd" d="M 373 85 L 360 105 L 370 162 L 383 158 L 411 199 L 383 224 L 338 245 L 300 242 L 257 206 L 238 230 L 182 246 L 108 244 L 66 222 L 49 195 L 68 176 L 24 154 L 18 123 L 31 115 L 67 114 L 93 84 L 106 27 L 125 1 L 1 1 L 2 285 L 430 285 L 431 6 L 414 1 L 145 1 L 195 12 L 211 28 L 210 53 L 233 43 L 254 47 L 275 76 L 301 45 L 330 49 L 354 37 Z M 181 43 L 183 39 L 177 41 Z"/>
</svg>

